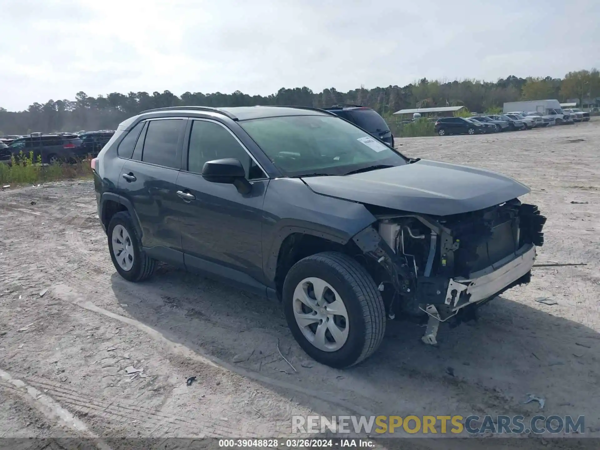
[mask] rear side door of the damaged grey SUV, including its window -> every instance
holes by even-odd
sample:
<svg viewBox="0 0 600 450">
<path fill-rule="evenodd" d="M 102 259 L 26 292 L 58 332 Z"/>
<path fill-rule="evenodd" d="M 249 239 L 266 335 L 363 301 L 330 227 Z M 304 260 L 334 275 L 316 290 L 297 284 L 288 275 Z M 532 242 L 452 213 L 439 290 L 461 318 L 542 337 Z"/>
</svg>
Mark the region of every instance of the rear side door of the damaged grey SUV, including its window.
<svg viewBox="0 0 600 450">
<path fill-rule="evenodd" d="M 136 212 L 146 253 L 180 266 L 181 199 L 176 194 L 176 182 L 186 123 L 185 118 L 146 121 L 133 155 L 125 155 L 131 159 L 125 161 L 118 184 L 119 194 L 129 200 Z"/>
</svg>

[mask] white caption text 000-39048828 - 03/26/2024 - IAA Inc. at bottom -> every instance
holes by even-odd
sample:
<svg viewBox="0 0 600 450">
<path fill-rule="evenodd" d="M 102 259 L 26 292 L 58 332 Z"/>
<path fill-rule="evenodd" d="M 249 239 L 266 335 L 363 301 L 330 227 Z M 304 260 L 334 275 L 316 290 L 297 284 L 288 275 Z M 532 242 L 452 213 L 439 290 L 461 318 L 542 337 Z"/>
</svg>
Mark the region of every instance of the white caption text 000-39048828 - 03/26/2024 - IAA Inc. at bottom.
<svg viewBox="0 0 600 450">
<path fill-rule="evenodd" d="M 373 448 L 370 439 L 219 439 L 220 448 Z"/>
</svg>

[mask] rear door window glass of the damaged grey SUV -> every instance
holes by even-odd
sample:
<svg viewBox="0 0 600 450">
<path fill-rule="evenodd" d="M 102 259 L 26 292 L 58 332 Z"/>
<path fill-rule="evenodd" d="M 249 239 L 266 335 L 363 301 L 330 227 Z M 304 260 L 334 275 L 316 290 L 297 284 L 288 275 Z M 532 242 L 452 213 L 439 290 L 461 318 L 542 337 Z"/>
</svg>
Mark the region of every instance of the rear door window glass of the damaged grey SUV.
<svg viewBox="0 0 600 450">
<path fill-rule="evenodd" d="M 184 126 L 185 121 L 181 119 L 150 121 L 144 140 L 142 161 L 178 169 L 180 161 L 177 161 L 177 145 Z"/>
</svg>

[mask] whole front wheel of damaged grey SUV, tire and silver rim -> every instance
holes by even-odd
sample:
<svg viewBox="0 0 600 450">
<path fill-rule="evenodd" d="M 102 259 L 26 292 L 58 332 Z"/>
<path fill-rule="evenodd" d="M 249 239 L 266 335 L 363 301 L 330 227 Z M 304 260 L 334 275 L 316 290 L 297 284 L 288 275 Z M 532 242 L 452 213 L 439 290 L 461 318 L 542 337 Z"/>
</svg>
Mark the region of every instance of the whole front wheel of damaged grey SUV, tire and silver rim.
<svg viewBox="0 0 600 450">
<path fill-rule="evenodd" d="M 382 341 L 383 299 L 367 270 L 346 254 L 317 253 L 297 262 L 282 298 L 293 337 L 321 364 L 358 364 Z"/>
</svg>

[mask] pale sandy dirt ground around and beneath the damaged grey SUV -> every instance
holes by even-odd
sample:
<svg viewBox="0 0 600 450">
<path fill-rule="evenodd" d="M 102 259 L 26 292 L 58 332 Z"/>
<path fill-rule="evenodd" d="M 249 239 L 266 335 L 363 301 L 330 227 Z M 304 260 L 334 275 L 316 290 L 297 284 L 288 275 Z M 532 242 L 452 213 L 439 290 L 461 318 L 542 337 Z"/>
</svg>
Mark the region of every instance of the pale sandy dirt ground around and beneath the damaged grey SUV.
<svg viewBox="0 0 600 450">
<path fill-rule="evenodd" d="M 600 437 L 599 142 L 600 120 L 398 139 L 410 157 L 529 185 L 524 199 L 548 217 L 538 263 L 587 265 L 534 269 L 478 322 L 440 326 L 438 347 L 389 321 L 380 350 L 350 370 L 310 361 L 267 299 L 169 266 L 119 278 L 91 182 L 2 191 L 0 437 L 285 436 L 291 415 L 309 413 L 584 415 Z"/>
</svg>

